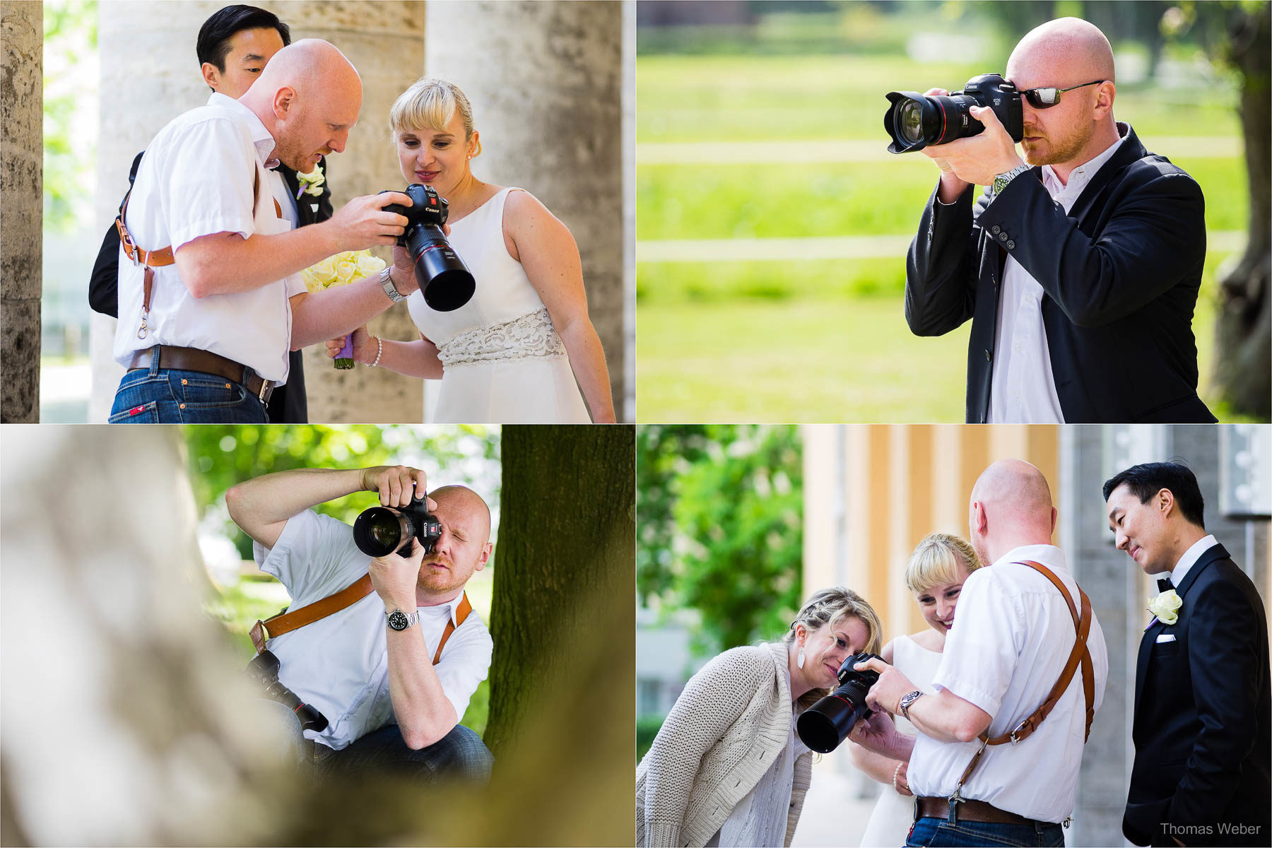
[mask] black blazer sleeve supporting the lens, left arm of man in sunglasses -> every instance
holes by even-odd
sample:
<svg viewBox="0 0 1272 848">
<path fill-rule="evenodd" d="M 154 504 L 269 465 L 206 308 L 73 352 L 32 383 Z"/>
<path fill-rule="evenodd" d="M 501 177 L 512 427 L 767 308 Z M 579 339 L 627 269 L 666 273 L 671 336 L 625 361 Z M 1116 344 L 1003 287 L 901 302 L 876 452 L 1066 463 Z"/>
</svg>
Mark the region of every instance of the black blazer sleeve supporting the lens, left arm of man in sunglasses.
<svg viewBox="0 0 1272 848">
<path fill-rule="evenodd" d="M 906 323 L 915 336 L 943 336 L 972 317 L 976 304 L 976 244 L 973 226 L 983 198 L 968 187 L 949 206 L 936 200 L 940 182 L 918 220 L 918 235 L 906 259 Z"/>
</svg>

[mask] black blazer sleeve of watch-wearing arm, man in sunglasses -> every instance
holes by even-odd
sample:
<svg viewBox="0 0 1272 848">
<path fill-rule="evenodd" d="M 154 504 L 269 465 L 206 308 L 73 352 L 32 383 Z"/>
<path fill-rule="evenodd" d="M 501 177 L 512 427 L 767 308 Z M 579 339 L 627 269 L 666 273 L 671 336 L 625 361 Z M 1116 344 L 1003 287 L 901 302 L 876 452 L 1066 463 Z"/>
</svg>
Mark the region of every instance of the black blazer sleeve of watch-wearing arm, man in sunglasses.
<svg viewBox="0 0 1272 848">
<path fill-rule="evenodd" d="M 1014 242 L 1004 247 L 1079 327 L 1130 315 L 1206 254 L 1206 205 L 1188 174 L 1141 160 L 1112 192 L 1098 239 L 1079 230 L 1033 174 L 1013 179 L 978 221 L 1001 226 Z"/>
</svg>

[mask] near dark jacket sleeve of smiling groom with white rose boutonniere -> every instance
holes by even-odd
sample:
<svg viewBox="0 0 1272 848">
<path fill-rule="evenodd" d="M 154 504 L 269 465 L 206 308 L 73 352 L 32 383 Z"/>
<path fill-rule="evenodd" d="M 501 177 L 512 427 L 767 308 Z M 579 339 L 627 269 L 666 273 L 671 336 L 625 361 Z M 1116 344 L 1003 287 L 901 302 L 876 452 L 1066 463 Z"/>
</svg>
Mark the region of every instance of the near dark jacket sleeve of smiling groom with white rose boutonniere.
<svg viewBox="0 0 1272 848">
<path fill-rule="evenodd" d="M 1213 825 L 1238 790 L 1238 764 L 1254 746 L 1258 685 L 1267 670 L 1259 667 L 1257 613 L 1236 585 L 1211 582 L 1189 601 L 1188 670 L 1202 731 L 1166 821 Z"/>
</svg>

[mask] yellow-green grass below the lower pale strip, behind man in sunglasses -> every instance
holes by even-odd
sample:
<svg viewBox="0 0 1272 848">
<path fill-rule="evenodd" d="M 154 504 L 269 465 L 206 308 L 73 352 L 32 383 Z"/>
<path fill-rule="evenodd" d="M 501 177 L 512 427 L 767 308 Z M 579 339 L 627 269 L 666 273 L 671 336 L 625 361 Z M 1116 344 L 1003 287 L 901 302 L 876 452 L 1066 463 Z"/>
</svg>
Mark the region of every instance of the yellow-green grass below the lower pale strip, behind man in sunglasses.
<svg viewBox="0 0 1272 848">
<path fill-rule="evenodd" d="M 1224 258 L 1207 257 L 1193 318 L 1212 407 L 1213 270 Z M 642 301 L 636 329 L 639 421 L 963 421 L 971 323 L 918 338 L 901 297 Z"/>
</svg>

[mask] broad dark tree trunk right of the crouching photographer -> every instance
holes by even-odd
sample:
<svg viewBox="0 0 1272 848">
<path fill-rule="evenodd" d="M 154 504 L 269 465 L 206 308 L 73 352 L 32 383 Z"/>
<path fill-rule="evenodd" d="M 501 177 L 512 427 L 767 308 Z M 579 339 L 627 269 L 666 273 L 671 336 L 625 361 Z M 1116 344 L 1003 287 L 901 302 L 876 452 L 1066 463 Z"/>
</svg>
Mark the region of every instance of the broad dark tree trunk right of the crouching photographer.
<svg viewBox="0 0 1272 848">
<path fill-rule="evenodd" d="M 635 431 L 504 427 L 491 637 L 495 843 L 631 844 Z"/>
</svg>

